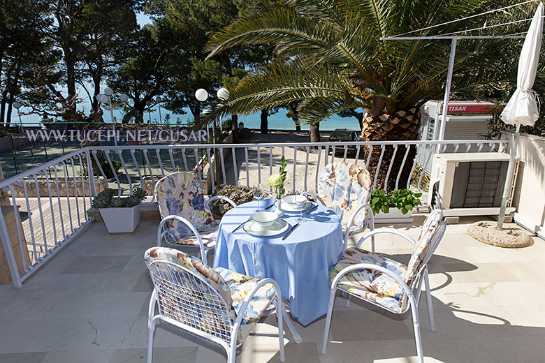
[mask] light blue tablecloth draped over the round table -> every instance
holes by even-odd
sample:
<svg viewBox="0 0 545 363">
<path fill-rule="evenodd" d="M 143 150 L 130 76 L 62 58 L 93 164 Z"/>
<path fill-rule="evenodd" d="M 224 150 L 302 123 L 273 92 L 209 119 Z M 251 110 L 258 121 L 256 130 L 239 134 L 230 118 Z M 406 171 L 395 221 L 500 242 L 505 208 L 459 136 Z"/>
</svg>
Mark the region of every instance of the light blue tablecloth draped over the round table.
<svg viewBox="0 0 545 363">
<path fill-rule="evenodd" d="M 262 200 L 261 208 L 273 200 Z M 290 302 L 291 315 L 308 325 L 327 313 L 329 271 L 342 253 L 342 230 L 337 214 L 320 205 L 307 221 L 282 241 L 277 237 L 253 237 L 242 228 L 233 230 L 254 213 L 257 202 L 231 209 L 221 218 L 214 267 L 225 267 L 260 279 L 275 279 L 282 297 Z M 274 210 L 273 207 L 270 210 Z M 297 212 L 282 216 L 296 224 Z"/>
</svg>

